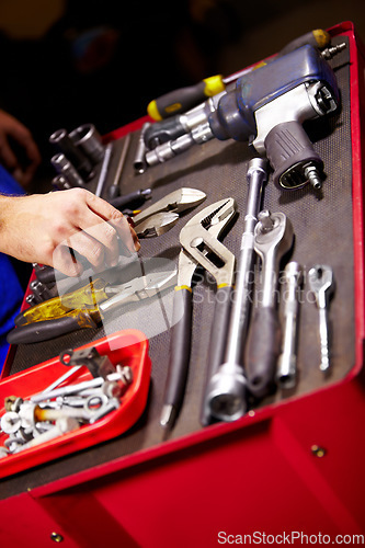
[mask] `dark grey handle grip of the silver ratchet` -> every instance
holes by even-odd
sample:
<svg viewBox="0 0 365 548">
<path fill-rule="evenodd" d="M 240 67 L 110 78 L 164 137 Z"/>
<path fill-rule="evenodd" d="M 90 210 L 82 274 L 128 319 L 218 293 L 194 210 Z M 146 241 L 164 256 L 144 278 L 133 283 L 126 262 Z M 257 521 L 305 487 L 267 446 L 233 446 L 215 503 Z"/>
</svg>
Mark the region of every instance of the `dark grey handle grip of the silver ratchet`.
<svg viewBox="0 0 365 548">
<path fill-rule="evenodd" d="M 274 387 L 281 338 L 277 309 L 258 308 L 252 319 L 246 356 L 248 386 L 256 398 L 267 396 Z"/>
</svg>

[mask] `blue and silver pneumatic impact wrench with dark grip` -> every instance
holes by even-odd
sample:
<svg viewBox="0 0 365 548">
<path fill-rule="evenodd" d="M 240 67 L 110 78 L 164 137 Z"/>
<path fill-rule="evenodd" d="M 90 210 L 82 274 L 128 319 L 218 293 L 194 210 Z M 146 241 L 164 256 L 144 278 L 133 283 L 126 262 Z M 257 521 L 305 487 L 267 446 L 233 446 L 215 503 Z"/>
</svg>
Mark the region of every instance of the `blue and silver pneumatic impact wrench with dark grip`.
<svg viewBox="0 0 365 548">
<path fill-rule="evenodd" d="M 345 44 L 331 47 L 331 56 L 344 47 Z M 323 55 L 316 47 L 304 45 L 248 72 L 216 101 L 181 115 L 189 129 L 149 150 L 147 163 L 167 161 L 212 138 L 231 138 L 248 141 L 260 156 L 266 155 L 274 170 L 273 180 L 282 187 L 298 189 L 309 182 L 320 189 L 323 162 L 303 123 L 326 116 L 340 104 L 328 58 L 328 52 Z M 198 124 L 190 125 L 191 118 L 198 119 Z"/>
</svg>

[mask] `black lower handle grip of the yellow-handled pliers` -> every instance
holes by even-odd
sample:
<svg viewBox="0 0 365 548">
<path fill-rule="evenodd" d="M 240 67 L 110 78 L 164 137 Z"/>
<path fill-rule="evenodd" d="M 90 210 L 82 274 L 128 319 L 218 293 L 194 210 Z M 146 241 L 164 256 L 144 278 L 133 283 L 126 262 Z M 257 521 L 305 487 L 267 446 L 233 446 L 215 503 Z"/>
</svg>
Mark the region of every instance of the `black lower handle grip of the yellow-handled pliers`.
<svg viewBox="0 0 365 548">
<path fill-rule="evenodd" d="M 83 327 L 88 327 L 83 324 Z M 89 327 L 92 327 L 90 324 Z M 35 343 L 48 341 L 56 336 L 71 333 L 80 329 L 78 316 L 64 316 L 56 320 L 35 321 L 13 329 L 7 336 L 9 344 Z"/>
</svg>

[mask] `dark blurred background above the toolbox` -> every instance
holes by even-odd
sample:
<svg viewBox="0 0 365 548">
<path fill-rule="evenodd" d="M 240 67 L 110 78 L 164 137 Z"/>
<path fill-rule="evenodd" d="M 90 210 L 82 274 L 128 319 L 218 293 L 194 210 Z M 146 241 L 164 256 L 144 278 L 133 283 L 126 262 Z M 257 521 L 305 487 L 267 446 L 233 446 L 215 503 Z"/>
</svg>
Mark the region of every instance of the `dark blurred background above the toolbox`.
<svg viewBox="0 0 365 548">
<path fill-rule="evenodd" d="M 23 122 L 43 155 L 49 135 L 93 123 L 109 133 L 180 85 L 229 75 L 312 30 L 353 21 L 363 0 L 13 0 L 0 2 L 0 107 Z M 45 175 L 46 174 L 46 175 Z"/>
</svg>

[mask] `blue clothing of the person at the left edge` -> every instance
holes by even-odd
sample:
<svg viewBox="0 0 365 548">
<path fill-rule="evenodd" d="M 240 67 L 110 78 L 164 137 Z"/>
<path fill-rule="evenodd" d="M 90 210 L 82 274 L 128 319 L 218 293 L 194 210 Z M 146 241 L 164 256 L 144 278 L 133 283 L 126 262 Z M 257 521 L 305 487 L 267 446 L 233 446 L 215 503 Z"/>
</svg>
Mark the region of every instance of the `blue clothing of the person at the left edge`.
<svg viewBox="0 0 365 548">
<path fill-rule="evenodd" d="M 20 184 L 2 165 L 0 165 L 0 193 L 18 196 L 24 194 Z M 0 253 L 0 372 L 9 350 L 7 334 L 14 327 L 14 317 L 19 312 L 23 296 L 24 290 L 12 260 Z"/>
</svg>

